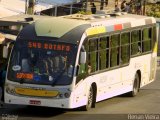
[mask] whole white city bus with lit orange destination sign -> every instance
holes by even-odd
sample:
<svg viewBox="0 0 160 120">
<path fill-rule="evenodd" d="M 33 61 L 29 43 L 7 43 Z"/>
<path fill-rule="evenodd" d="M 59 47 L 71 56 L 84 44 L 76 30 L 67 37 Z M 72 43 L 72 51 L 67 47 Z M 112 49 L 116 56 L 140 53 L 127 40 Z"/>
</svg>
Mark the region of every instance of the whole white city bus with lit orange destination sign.
<svg viewBox="0 0 160 120">
<path fill-rule="evenodd" d="M 5 103 L 93 108 L 154 81 L 158 26 L 130 14 L 70 15 L 25 27 L 12 50 Z"/>
</svg>

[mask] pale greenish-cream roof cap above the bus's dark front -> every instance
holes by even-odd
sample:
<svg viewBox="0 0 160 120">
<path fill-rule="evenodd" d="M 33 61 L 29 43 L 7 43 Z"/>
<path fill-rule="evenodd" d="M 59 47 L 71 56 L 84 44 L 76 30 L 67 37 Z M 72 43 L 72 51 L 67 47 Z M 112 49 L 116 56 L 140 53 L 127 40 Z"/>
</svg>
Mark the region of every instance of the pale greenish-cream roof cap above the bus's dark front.
<svg viewBox="0 0 160 120">
<path fill-rule="evenodd" d="M 35 29 L 37 36 L 60 38 L 70 30 L 84 24 L 88 24 L 88 22 L 83 20 L 55 17 L 37 21 L 35 23 Z"/>
</svg>

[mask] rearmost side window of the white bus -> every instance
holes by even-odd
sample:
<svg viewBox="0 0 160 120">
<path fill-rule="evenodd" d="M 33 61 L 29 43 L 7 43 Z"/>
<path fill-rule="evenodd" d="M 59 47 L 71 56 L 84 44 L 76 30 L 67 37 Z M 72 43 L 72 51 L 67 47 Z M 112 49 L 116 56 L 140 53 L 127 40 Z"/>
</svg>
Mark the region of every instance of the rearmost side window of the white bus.
<svg viewBox="0 0 160 120">
<path fill-rule="evenodd" d="M 152 28 L 143 29 L 142 50 L 148 52 L 151 50 Z"/>
</svg>

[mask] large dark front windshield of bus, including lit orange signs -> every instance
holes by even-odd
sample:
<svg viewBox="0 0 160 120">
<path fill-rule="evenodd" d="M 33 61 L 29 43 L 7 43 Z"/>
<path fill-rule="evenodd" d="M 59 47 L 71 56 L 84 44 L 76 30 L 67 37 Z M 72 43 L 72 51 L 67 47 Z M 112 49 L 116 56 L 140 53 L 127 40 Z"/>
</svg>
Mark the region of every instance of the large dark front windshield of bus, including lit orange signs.
<svg viewBox="0 0 160 120">
<path fill-rule="evenodd" d="M 20 83 L 69 85 L 72 82 L 76 45 L 57 42 L 16 42 L 8 79 Z"/>
</svg>

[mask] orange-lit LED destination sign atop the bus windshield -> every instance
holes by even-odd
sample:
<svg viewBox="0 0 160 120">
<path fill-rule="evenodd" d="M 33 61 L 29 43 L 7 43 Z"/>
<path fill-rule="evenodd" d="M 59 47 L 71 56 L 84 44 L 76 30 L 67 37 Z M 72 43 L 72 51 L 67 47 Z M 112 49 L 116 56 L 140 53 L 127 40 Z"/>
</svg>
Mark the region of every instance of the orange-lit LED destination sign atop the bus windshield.
<svg viewBox="0 0 160 120">
<path fill-rule="evenodd" d="M 71 51 L 71 46 L 66 44 L 51 44 L 40 42 L 28 42 L 29 48 L 45 49 L 45 50 L 57 50 L 57 51 Z"/>
</svg>

